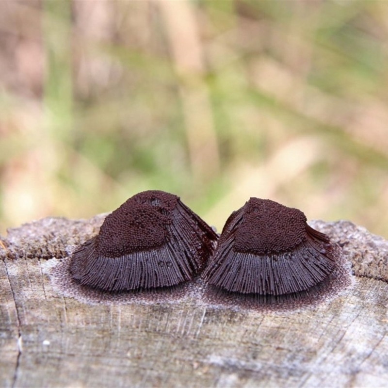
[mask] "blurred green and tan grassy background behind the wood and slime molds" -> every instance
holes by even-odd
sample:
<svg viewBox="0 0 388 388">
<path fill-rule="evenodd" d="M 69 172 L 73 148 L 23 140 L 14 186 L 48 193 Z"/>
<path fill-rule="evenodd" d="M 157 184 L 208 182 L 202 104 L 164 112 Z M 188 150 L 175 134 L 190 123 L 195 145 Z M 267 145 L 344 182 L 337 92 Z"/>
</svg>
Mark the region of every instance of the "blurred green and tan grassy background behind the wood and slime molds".
<svg viewBox="0 0 388 388">
<path fill-rule="evenodd" d="M 1 1 L 0 233 L 178 194 L 388 237 L 387 1 Z"/>
</svg>

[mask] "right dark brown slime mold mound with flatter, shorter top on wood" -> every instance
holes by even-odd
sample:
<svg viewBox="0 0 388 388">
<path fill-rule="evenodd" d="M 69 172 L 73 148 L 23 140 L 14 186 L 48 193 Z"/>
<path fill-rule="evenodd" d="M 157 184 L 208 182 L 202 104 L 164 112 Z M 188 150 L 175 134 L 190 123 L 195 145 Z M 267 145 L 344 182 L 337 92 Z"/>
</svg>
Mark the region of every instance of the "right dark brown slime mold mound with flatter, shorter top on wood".
<svg viewBox="0 0 388 388">
<path fill-rule="evenodd" d="M 217 288 L 271 299 L 320 285 L 336 269 L 338 255 L 302 211 L 250 198 L 226 221 L 203 276 Z"/>
</svg>

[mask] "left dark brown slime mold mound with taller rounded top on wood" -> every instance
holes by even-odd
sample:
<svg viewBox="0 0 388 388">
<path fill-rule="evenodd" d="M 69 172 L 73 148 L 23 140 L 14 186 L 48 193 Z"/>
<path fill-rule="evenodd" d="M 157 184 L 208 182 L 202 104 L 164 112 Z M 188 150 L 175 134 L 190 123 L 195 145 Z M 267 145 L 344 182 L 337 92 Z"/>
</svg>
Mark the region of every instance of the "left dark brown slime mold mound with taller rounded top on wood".
<svg viewBox="0 0 388 388">
<path fill-rule="evenodd" d="M 178 196 L 146 191 L 106 217 L 69 269 L 82 285 L 106 291 L 175 286 L 203 270 L 217 239 Z"/>
</svg>

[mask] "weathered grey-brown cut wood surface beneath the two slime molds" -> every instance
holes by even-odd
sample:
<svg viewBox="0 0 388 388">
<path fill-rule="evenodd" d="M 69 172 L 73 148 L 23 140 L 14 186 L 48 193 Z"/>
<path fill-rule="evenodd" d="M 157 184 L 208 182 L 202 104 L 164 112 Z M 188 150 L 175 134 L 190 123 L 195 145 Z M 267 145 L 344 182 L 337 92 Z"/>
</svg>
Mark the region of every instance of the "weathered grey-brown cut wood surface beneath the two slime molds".
<svg viewBox="0 0 388 388">
<path fill-rule="evenodd" d="M 102 221 L 48 218 L 1 237 L 1 386 L 388 385 L 384 239 L 349 222 L 315 222 L 354 271 L 351 286 L 316 305 L 246 309 L 195 292 L 90 304 L 52 274 Z"/>
</svg>

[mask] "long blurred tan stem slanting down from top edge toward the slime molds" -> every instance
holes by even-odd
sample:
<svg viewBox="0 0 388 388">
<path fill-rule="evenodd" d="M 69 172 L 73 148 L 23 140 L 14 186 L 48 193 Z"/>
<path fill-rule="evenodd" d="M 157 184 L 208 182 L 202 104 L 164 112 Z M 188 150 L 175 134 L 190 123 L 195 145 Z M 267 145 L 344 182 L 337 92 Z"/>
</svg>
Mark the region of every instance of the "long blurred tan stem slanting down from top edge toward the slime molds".
<svg viewBox="0 0 388 388">
<path fill-rule="evenodd" d="M 195 9 L 190 1 L 157 1 L 162 12 L 186 125 L 193 174 L 199 182 L 217 175 L 219 151 Z"/>
</svg>

